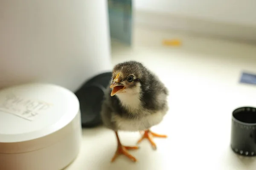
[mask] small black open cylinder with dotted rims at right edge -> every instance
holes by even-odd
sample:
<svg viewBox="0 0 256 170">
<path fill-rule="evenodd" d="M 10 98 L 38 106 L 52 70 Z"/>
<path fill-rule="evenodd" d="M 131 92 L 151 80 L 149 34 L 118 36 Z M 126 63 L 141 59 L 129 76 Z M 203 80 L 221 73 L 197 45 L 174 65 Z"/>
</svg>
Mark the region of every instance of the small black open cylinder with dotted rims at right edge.
<svg viewBox="0 0 256 170">
<path fill-rule="evenodd" d="M 237 108 L 232 114 L 231 148 L 242 156 L 256 156 L 256 108 Z"/>
</svg>

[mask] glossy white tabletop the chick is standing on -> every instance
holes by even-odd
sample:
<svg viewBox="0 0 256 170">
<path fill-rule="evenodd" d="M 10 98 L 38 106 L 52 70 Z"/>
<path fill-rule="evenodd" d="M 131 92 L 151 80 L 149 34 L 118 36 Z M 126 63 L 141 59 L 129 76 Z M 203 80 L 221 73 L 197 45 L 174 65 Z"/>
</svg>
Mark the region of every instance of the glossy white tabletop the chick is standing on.
<svg viewBox="0 0 256 170">
<path fill-rule="evenodd" d="M 231 113 L 256 106 L 256 86 L 239 84 L 242 70 L 256 73 L 256 46 L 219 39 L 135 29 L 133 48 L 113 43 L 113 64 L 143 61 L 169 88 L 169 113 L 152 128 L 167 134 L 131 151 L 137 163 L 120 156 L 116 139 L 103 127 L 83 130 L 78 158 L 67 170 L 255 170 L 255 158 L 241 158 L 230 149 Z M 165 47 L 163 39 L 180 38 L 180 47 Z M 134 145 L 139 133 L 120 133 L 121 142 Z"/>
</svg>

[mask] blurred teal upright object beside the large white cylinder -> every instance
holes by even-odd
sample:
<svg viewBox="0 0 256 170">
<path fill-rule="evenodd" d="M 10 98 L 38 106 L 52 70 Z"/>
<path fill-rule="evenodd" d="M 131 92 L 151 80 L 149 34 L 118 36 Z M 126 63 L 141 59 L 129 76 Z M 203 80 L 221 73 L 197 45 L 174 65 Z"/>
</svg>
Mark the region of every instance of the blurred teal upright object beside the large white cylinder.
<svg viewBox="0 0 256 170">
<path fill-rule="evenodd" d="M 108 0 L 111 38 L 132 43 L 132 0 Z"/>
</svg>

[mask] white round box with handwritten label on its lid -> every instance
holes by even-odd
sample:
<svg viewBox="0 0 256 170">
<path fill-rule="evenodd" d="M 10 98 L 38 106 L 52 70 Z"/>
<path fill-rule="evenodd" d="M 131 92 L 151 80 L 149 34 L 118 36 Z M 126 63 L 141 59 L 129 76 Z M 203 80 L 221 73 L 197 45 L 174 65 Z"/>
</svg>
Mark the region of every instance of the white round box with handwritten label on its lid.
<svg viewBox="0 0 256 170">
<path fill-rule="evenodd" d="M 61 170 L 80 145 L 79 101 L 71 91 L 50 84 L 0 91 L 0 170 Z"/>
</svg>

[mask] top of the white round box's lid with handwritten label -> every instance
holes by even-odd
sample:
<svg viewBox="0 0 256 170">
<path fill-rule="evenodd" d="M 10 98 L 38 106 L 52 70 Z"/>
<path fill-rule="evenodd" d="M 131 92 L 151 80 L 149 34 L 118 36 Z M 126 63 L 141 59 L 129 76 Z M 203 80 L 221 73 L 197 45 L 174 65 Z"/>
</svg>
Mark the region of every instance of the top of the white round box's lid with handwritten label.
<svg viewBox="0 0 256 170">
<path fill-rule="evenodd" d="M 57 85 L 35 83 L 2 89 L 0 148 L 3 144 L 42 137 L 48 137 L 51 142 L 59 140 L 72 129 L 69 123 L 79 113 L 76 95 Z M 58 131 L 58 135 L 50 136 Z"/>
</svg>

